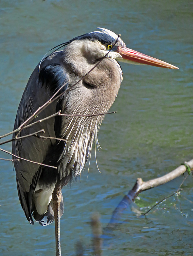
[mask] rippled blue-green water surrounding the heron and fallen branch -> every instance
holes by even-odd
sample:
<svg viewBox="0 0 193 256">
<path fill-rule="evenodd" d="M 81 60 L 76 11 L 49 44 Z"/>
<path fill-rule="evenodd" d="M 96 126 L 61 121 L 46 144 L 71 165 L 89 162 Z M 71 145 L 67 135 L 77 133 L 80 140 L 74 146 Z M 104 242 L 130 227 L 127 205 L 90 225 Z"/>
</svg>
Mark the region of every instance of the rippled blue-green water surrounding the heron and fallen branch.
<svg viewBox="0 0 193 256">
<path fill-rule="evenodd" d="M 90 216 L 105 228 L 117 204 L 138 177 L 149 180 L 193 157 L 193 2 L 188 1 L 13 1 L 0 2 L 0 134 L 13 129 L 29 76 L 55 45 L 103 27 L 128 48 L 179 70 L 121 63 L 123 82 L 101 125 L 96 151 L 79 180 L 63 188 L 62 255 L 75 255 L 83 241 L 93 255 Z M 11 144 L 2 146 L 11 151 Z M 1 153 L 0 157 L 8 158 Z M 139 195 L 145 212 L 176 191 L 183 176 Z M 192 176 L 183 190 L 145 217 L 126 210 L 121 225 L 104 233 L 103 255 L 193 255 Z M 0 160 L 0 255 L 55 255 L 54 224 L 31 226 L 20 206 L 12 163 Z"/>
</svg>

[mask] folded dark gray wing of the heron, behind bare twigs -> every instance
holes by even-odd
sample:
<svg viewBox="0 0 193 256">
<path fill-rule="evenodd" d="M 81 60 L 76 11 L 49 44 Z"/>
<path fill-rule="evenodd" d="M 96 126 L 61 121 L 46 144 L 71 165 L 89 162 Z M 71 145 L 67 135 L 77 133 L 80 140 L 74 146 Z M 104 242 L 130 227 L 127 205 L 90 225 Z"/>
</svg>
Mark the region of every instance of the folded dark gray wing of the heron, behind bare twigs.
<svg viewBox="0 0 193 256">
<path fill-rule="evenodd" d="M 40 73 L 38 72 L 38 68 L 39 65 L 33 71 L 24 90 L 17 111 L 14 130 L 29 118 L 34 111 L 47 102 L 57 89 L 68 81 L 68 74 L 66 70 L 58 63 L 49 64 L 47 61 L 47 65 L 44 65 L 44 67 L 41 68 Z M 64 91 L 66 88 L 67 84 L 62 90 Z M 46 109 L 38 114 L 38 117 L 36 117 L 32 122 L 36 122 L 37 120 L 56 113 L 60 109 L 58 104 L 59 101 L 51 103 Z M 46 121 L 23 129 L 20 132 L 20 136 L 28 135 L 44 129 L 44 136 L 57 137 L 59 136 L 60 126 L 61 122 L 56 126 L 55 118 L 52 117 Z M 15 134 L 13 137 L 14 136 Z M 14 155 L 19 157 L 42 163 L 46 158 L 49 148 L 54 144 L 55 140 L 53 139 L 42 140 L 37 137 L 28 137 L 14 141 L 12 145 L 12 152 Z M 38 164 L 25 160 L 14 161 L 14 166 L 16 170 L 16 181 L 21 206 L 28 221 L 31 224 L 34 224 L 31 205 L 32 195 L 39 179 L 41 167 Z"/>
</svg>

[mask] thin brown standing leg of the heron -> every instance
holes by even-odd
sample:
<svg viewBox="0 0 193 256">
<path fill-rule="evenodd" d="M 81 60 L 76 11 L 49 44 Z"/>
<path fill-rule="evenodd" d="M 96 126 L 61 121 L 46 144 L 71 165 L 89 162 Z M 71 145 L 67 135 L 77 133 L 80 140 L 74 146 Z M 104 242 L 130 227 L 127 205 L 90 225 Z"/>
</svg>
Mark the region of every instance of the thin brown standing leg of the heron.
<svg viewBox="0 0 193 256">
<path fill-rule="evenodd" d="M 61 183 L 55 185 L 52 193 L 52 202 L 54 208 L 54 219 L 55 219 L 55 237 L 56 237 L 56 256 L 61 256 L 60 248 L 60 201 L 61 201 Z"/>
</svg>

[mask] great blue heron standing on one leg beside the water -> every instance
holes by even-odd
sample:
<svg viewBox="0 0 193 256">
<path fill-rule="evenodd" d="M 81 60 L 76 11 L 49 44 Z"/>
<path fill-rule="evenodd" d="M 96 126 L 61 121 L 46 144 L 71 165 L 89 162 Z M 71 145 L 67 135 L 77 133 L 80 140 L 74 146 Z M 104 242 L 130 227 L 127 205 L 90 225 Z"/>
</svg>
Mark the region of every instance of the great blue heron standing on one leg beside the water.
<svg viewBox="0 0 193 256">
<path fill-rule="evenodd" d="M 126 48 L 118 35 L 107 29 L 99 29 L 61 44 L 60 47 L 65 46 L 62 51 L 51 53 L 37 65 L 24 90 L 14 129 L 64 84 L 60 91 L 64 94 L 48 105 L 32 122 L 59 110 L 69 115 L 106 113 L 115 101 L 122 81 L 122 70 L 117 61 L 177 69 L 166 62 Z M 97 63 L 98 66 L 87 74 Z M 82 77 L 83 80 L 79 81 Z M 103 115 L 52 117 L 22 129 L 19 136 L 44 129 L 45 137 L 66 141 L 28 137 L 13 142 L 14 155 L 57 167 L 53 169 L 25 160 L 14 161 L 19 200 L 28 221 L 34 224 L 34 218 L 46 226 L 53 222 L 55 216 L 56 255 L 61 255 L 57 225 L 64 212 L 60 189 L 80 175 L 103 118 Z"/>
</svg>

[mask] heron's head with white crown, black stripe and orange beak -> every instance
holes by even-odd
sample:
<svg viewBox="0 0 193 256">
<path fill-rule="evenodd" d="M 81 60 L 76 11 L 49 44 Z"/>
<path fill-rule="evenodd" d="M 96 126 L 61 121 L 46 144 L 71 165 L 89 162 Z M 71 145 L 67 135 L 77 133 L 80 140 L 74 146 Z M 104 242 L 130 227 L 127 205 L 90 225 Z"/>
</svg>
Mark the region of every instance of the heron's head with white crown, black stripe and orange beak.
<svg viewBox="0 0 193 256">
<path fill-rule="evenodd" d="M 107 58 L 131 64 L 178 69 L 169 63 L 127 48 L 114 32 L 105 28 L 98 29 L 101 31 L 93 31 L 70 40 L 68 43 L 73 47 L 73 53 L 77 52 L 80 58 L 84 57 L 90 63 L 107 54 Z"/>
</svg>

